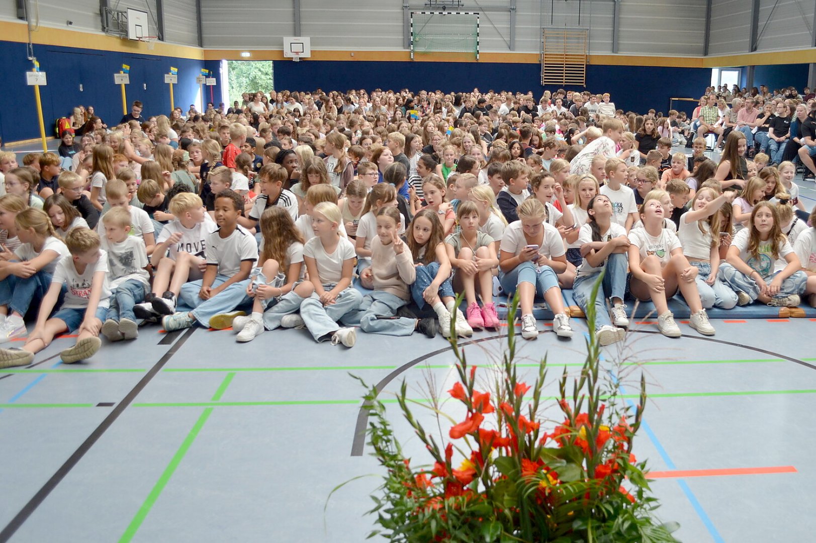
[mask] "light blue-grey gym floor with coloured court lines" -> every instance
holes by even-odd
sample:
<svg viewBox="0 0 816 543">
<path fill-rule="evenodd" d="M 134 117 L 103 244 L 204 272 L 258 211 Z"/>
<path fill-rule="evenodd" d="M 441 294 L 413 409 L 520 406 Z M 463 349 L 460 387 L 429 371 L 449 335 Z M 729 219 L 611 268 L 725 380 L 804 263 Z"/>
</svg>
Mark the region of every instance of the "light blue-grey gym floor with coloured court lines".
<svg viewBox="0 0 816 543">
<path fill-rule="evenodd" d="M 659 516 L 681 523 L 682 541 L 812 541 L 814 321 L 712 319 L 716 336 L 681 323 L 684 336 L 669 339 L 638 320 L 625 344 L 605 349 L 625 361 L 629 394 L 645 372 L 635 452 L 659 472 Z M 547 324 L 538 340 L 520 340 L 517 363 L 532 376 L 548 354 L 555 394 L 561 368 L 580 367 L 586 323 L 573 319 L 572 340 Z M 465 346 L 483 378 L 506 332 L 477 332 Z M 323 512 L 332 488 L 379 473 L 357 438 L 363 390 L 348 373 L 382 387 L 415 465 L 427 456 L 393 393 L 405 379 L 410 398 L 427 397 L 428 382 L 447 398 L 455 379 L 438 336 L 361 332 L 345 349 L 305 330 L 239 345 L 231 331 L 153 326 L 65 366 L 58 354 L 73 341 L 0 371 L 0 541 L 364 541 L 378 478 L 349 483 Z M 446 403 L 455 418 L 457 409 Z"/>
</svg>

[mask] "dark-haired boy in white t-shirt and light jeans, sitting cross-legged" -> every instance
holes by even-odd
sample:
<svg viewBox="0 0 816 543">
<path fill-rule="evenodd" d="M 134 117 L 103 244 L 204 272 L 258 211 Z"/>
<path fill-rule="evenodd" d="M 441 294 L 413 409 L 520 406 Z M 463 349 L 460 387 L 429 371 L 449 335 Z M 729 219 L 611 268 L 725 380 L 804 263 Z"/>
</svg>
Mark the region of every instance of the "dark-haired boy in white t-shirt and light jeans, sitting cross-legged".
<svg viewBox="0 0 816 543">
<path fill-rule="evenodd" d="M 215 195 L 215 222 L 219 229 L 206 239 L 204 278 L 184 283 L 179 296 L 193 310 L 162 318 L 167 332 L 195 323 L 223 330 L 232 326 L 233 318 L 245 315 L 234 309 L 252 302 L 246 296 L 246 285 L 258 260 L 258 243 L 255 236 L 238 224 L 243 207 L 244 199 L 234 190 L 222 190 Z"/>
</svg>

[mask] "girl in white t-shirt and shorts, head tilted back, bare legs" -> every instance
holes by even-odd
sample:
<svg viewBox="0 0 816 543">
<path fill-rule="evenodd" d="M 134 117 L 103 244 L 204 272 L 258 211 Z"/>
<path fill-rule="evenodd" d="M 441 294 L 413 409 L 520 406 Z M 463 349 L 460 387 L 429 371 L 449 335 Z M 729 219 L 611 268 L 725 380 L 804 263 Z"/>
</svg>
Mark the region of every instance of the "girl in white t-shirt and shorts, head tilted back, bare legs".
<svg viewBox="0 0 816 543">
<path fill-rule="evenodd" d="M 663 228 L 663 204 L 653 193 L 646 194 L 641 207 L 643 228 L 629 232 L 630 289 L 638 300 L 652 300 L 658 314 L 658 328 L 663 336 L 680 337 L 680 327 L 668 309 L 667 300 L 679 288 L 691 309 L 689 326 L 713 336 L 706 310 L 697 291 L 698 269 L 683 255 L 680 240 L 672 230 Z"/>
</svg>

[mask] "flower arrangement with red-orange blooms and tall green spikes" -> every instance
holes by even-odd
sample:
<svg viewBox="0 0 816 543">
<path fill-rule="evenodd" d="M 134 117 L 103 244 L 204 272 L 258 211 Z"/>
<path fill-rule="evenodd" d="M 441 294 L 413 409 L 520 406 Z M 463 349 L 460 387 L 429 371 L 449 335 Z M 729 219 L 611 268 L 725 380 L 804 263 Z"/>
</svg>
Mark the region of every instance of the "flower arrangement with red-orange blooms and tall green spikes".
<svg viewBox="0 0 816 543">
<path fill-rule="evenodd" d="M 509 314 L 516 314 L 517 303 L 513 300 Z M 593 305 L 589 308 L 592 313 Z M 593 331 L 594 314 L 587 318 Z M 672 532 L 677 524 L 654 519 L 659 504 L 650 496 L 645 463 L 638 463 L 632 452 L 646 400 L 642 374 L 640 401 L 626 406 L 614 377 L 602 375 L 600 346 L 590 332 L 579 376 L 570 380 L 565 369 L 559 380 L 560 394 L 554 399 L 563 421 L 554 424 L 539 412 L 549 400 L 542 395 L 548 360 L 539 363 L 532 385 L 519 381 L 512 326 L 490 391 L 477 384 L 477 376 L 488 370 L 468 365 L 455 337 L 450 343 L 459 381 L 448 394 L 463 404 L 467 415 L 454 421 L 448 435 L 429 434 L 415 419 L 405 381 L 397 394 L 402 416 L 428 451 L 428 465 L 415 465 L 403 456 L 376 389 L 365 396 L 369 444 L 386 470 L 384 483 L 371 496 L 375 507 L 369 513 L 376 514 L 378 527 L 370 537 L 410 542 L 676 541 Z M 437 416 L 445 416 L 438 398 L 431 404 Z M 455 455 L 463 460 L 455 462 Z"/>
</svg>

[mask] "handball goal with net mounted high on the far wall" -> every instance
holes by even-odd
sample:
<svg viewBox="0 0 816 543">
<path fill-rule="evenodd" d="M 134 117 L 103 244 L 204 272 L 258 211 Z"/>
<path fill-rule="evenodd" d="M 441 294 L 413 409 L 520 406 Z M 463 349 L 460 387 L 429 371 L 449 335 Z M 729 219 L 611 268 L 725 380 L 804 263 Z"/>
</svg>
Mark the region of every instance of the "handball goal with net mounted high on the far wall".
<svg viewBox="0 0 816 543">
<path fill-rule="evenodd" d="M 412 11 L 410 57 L 415 53 L 472 53 L 479 59 L 479 14 L 460 11 Z"/>
</svg>

